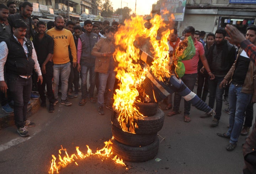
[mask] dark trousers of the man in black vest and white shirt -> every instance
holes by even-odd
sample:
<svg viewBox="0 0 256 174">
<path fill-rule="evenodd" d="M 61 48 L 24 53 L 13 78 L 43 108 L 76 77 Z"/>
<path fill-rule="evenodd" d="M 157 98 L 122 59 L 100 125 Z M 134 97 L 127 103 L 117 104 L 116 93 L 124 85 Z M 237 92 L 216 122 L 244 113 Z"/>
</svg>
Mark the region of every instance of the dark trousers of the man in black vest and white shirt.
<svg viewBox="0 0 256 174">
<path fill-rule="evenodd" d="M 14 100 L 15 125 L 20 128 L 25 125 L 27 104 L 32 90 L 32 78 L 24 79 L 18 75 L 7 75 L 7 86 Z"/>
</svg>

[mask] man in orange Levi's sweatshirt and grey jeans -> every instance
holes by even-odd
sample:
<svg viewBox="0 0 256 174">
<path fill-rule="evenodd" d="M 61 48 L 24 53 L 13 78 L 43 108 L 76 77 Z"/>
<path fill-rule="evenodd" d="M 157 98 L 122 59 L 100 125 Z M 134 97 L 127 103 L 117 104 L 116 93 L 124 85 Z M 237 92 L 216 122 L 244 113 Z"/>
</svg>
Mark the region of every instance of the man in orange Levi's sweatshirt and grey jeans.
<svg viewBox="0 0 256 174">
<path fill-rule="evenodd" d="M 73 67 L 76 66 L 76 46 L 74 42 L 74 37 L 72 33 L 64 29 L 64 18 L 62 16 L 57 16 L 55 18 L 55 27 L 46 32 L 54 40 L 54 50 L 53 50 L 53 90 L 55 102 L 58 103 L 58 83 L 59 75 L 61 78 L 61 90 L 62 97 L 61 103 L 63 105 L 69 106 L 72 103 L 68 101 L 68 79 L 70 75 L 70 59 L 69 59 L 69 47 L 73 57 Z"/>
</svg>

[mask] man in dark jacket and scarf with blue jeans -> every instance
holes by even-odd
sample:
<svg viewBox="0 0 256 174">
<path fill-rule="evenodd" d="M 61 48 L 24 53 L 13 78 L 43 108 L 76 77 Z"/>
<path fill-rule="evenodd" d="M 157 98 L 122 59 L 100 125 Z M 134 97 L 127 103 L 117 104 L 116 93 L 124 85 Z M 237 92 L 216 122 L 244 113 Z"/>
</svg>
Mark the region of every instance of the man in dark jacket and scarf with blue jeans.
<svg viewBox="0 0 256 174">
<path fill-rule="evenodd" d="M 218 126 L 222 114 L 222 95 L 224 88 L 219 88 L 220 82 L 228 73 L 229 69 L 235 62 L 236 49 L 227 40 L 224 39 L 226 31 L 218 29 L 215 31 L 215 43 L 210 47 L 208 52 L 208 63 L 215 79 L 209 79 L 209 106 L 214 108 L 216 98 L 216 115 L 210 125 Z M 212 115 L 204 114 L 201 118 L 211 117 Z"/>
</svg>

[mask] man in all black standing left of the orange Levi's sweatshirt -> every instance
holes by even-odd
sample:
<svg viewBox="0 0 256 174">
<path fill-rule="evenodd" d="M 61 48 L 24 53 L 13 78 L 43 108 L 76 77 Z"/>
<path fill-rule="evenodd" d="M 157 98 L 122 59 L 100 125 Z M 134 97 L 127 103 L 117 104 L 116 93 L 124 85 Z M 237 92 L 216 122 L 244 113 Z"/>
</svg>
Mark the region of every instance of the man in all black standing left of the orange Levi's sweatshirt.
<svg viewBox="0 0 256 174">
<path fill-rule="evenodd" d="M 52 88 L 53 62 L 50 61 L 53 56 L 54 42 L 53 38 L 45 33 L 46 25 L 44 24 L 44 22 L 39 21 L 37 23 L 37 30 L 38 33 L 35 35 L 33 43 L 34 48 L 37 52 L 37 59 L 43 76 L 43 83 L 37 83 L 38 92 L 40 94 L 40 99 L 42 101 L 41 107 L 46 108 L 46 96 L 44 95 L 44 89 L 46 86 L 47 96 L 50 103 L 49 112 L 54 112 L 53 103 L 55 102 L 55 100 Z"/>
</svg>

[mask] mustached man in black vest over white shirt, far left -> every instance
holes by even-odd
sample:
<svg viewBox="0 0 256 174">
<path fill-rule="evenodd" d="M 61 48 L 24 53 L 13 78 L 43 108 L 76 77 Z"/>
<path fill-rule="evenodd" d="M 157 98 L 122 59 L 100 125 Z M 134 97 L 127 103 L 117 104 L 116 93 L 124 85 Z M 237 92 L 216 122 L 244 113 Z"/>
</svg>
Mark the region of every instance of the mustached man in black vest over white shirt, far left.
<svg viewBox="0 0 256 174">
<path fill-rule="evenodd" d="M 13 35 L 0 43 L 0 90 L 5 93 L 8 88 L 12 94 L 14 120 L 17 132 L 22 137 L 29 136 L 27 127 L 35 126 L 26 118 L 33 69 L 38 74 L 37 81 L 43 82 L 33 43 L 25 38 L 26 30 L 27 24 L 21 19 L 16 19 L 12 28 Z M 4 66 L 7 85 L 4 81 Z"/>
</svg>

